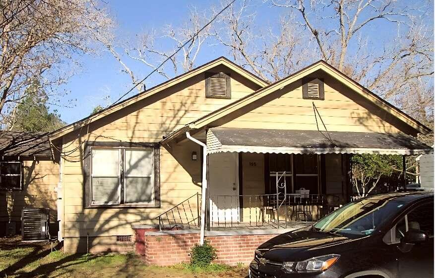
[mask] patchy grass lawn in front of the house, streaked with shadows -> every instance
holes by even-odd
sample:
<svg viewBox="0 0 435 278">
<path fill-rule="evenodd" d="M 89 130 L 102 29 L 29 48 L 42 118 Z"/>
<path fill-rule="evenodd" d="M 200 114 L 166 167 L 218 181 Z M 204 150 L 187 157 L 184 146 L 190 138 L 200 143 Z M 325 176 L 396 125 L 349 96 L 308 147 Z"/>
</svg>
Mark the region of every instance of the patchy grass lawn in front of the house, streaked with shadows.
<svg viewBox="0 0 435 278">
<path fill-rule="evenodd" d="M 244 266 L 211 265 L 190 269 L 186 264 L 172 267 L 145 266 L 135 254 L 64 254 L 51 252 L 45 243 L 24 244 L 19 237 L 0 238 L 0 278 L 4 277 L 246 277 Z"/>
</svg>

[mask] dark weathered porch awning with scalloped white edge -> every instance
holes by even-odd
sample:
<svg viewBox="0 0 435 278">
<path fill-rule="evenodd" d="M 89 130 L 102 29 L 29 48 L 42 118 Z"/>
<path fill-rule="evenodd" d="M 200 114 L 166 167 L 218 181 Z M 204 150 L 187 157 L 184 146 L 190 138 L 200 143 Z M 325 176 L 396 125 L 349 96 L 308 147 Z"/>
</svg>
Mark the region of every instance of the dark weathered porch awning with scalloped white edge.
<svg viewBox="0 0 435 278">
<path fill-rule="evenodd" d="M 423 154 L 433 149 L 398 133 L 211 128 L 207 152 Z"/>
</svg>

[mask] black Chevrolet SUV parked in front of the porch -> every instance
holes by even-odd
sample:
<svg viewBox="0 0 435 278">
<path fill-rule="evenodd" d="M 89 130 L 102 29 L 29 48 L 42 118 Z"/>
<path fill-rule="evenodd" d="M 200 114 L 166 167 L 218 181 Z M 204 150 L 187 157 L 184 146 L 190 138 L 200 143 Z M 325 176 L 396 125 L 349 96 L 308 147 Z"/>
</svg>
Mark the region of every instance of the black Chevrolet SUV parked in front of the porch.
<svg viewBox="0 0 435 278">
<path fill-rule="evenodd" d="M 255 250 L 250 278 L 434 277 L 434 195 L 391 193 L 349 203 Z"/>
</svg>

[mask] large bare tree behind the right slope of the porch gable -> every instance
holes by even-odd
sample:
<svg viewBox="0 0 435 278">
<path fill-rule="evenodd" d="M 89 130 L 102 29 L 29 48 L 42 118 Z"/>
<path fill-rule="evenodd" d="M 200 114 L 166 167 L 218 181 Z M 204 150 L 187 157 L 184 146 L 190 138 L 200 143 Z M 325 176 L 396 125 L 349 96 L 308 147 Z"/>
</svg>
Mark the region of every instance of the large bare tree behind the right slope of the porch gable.
<svg viewBox="0 0 435 278">
<path fill-rule="evenodd" d="M 324 60 L 417 119 L 432 122 L 433 93 L 432 97 L 423 93 L 433 88 L 434 30 L 425 24 L 432 7 L 397 0 L 270 2 L 299 13 Z M 396 38 L 382 42 L 371 37 L 367 31 L 373 31 L 375 24 L 390 27 Z M 371 47 L 373 41 L 383 43 L 383 49 Z"/>
</svg>

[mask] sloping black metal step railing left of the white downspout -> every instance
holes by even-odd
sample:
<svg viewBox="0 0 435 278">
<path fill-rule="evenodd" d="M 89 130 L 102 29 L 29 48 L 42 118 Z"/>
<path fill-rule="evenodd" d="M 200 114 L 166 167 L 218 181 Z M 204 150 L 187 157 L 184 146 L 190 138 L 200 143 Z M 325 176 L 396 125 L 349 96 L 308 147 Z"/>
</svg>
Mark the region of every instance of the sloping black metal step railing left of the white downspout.
<svg viewBox="0 0 435 278">
<path fill-rule="evenodd" d="M 159 220 L 159 230 L 198 229 L 200 208 L 201 194 L 195 193 L 155 218 Z"/>
</svg>

